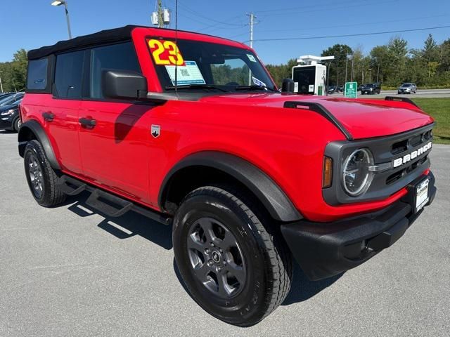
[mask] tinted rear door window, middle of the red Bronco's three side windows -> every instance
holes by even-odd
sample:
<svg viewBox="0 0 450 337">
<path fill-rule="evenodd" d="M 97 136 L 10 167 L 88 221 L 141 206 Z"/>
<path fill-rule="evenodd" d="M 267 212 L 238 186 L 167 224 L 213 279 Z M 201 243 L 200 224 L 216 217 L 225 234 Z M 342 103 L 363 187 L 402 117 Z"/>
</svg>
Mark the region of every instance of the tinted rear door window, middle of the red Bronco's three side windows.
<svg viewBox="0 0 450 337">
<path fill-rule="evenodd" d="M 84 51 L 56 56 L 55 89 L 59 98 L 81 98 Z"/>
</svg>

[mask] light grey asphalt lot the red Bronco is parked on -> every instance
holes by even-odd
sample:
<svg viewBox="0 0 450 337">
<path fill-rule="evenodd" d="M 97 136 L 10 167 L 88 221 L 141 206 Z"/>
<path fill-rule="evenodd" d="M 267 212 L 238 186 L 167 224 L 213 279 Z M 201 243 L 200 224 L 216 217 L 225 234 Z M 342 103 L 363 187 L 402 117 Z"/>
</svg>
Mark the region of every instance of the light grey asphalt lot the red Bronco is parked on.
<svg viewBox="0 0 450 337">
<path fill-rule="evenodd" d="M 449 336 L 450 146 L 434 145 L 435 203 L 399 242 L 354 270 L 293 289 L 250 328 L 188 296 L 171 228 L 105 219 L 86 196 L 56 209 L 32 198 L 17 135 L 0 131 L 0 336 Z"/>
</svg>

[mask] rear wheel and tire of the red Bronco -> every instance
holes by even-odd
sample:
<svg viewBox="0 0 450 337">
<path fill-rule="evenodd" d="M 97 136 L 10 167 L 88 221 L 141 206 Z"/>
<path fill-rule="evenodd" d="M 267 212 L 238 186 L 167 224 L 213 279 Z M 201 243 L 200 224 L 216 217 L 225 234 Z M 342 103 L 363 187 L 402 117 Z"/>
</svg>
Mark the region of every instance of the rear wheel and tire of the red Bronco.
<svg viewBox="0 0 450 337">
<path fill-rule="evenodd" d="M 58 189 L 58 176 L 51 168 L 41 143 L 31 140 L 24 153 L 25 176 L 28 187 L 37 203 L 52 207 L 65 201 L 65 194 Z"/>
</svg>

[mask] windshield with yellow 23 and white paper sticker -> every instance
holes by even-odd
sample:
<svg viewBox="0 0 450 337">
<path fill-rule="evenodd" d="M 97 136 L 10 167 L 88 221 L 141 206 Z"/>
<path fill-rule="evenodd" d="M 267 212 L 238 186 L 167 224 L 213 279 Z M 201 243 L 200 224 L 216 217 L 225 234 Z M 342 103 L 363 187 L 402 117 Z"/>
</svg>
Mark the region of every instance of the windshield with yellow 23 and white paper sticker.
<svg viewBox="0 0 450 337">
<path fill-rule="evenodd" d="M 189 90 L 274 90 L 274 82 L 257 56 L 243 48 L 203 41 L 148 39 L 153 63 L 165 90 L 176 83 Z M 179 55 L 176 55 L 178 47 Z"/>
</svg>

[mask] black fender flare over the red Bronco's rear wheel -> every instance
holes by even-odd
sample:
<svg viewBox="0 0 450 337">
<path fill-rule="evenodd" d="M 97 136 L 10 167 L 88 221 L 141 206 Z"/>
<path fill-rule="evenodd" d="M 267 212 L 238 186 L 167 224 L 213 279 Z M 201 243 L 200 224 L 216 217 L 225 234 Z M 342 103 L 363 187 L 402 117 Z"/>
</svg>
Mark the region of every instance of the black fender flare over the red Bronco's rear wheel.
<svg viewBox="0 0 450 337">
<path fill-rule="evenodd" d="M 41 143 L 46 157 L 47 159 L 49 159 L 51 167 L 53 169 L 60 170 L 61 168 L 59 166 L 58 160 L 56 160 L 55 152 L 53 152 L 53 147 L 51 147 L 49 137 L 47 137 L 44 128 L 41 126 L 41 124 L 39 124 L 38 121 L 25 121 L 25 123 L 20 126 L 18 134 L 18 150 L 20 157 L 23 157 L 23 154 L 25 153 L 25 146 L 27 146 L 27 143 L 30 140 L 28 136 L 30 132 L 34 134 L 39 143 Z"/>
</svg>

